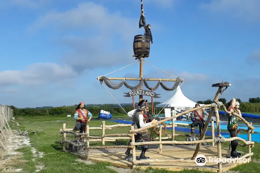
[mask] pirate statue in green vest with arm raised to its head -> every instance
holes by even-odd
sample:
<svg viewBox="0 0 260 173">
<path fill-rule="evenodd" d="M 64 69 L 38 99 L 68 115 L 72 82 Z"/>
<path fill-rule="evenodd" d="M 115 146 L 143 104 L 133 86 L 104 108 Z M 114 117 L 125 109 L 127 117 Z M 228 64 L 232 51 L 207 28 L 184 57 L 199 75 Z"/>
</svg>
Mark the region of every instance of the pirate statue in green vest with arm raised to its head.
<svg viewBox="0 0 260 173">
<path fill-rule="evenodd" d="M 231 99 L 228 102 L 229 112 L 234 112 L 234 113 L 237 113 L 240 116 L 242 116 L 242 114 L 239 110 L 239 105 L 240 104 L 236 99 Z M 238 135 L 237 135 L 237 127 L 238 127 L 237 121 L 238 120 L 239 120 L 239 118 L 237 118 L 237 116 L 229 114 L 229 122 L 227 125 L 227 130 L 229 131 L 231 138 L 238 137 Z M 231 153 L 230 153 L 231 157 L 241 157 L 241 153 L 238 153 L 236 151 L 237 145 L 238 145 L 238 140 L 231 141 Z"/>
</svg>

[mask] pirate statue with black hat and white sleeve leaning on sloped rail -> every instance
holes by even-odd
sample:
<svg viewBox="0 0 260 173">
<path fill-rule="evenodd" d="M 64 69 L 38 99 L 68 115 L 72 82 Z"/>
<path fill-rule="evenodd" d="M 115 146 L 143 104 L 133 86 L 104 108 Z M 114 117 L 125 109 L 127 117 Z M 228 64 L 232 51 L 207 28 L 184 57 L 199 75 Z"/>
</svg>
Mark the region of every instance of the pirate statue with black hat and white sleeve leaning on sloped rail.
<svg viewBox="0 0 260 173">
<path fill-rule="evenodd" d="M 147 108 L 149 108 L 149 104 L 148 104 L 147 100 L 141 100 L 139 102 L 138 106 L 139 106 L 139 108 L 136 109 L 134 111 L 133 115 L 131 116 L 131 118 L 133 119 L 132 126 L 134 126 L 134 129 L 140 129 L 140 128 L 146 127 L 148 125 L 157 123 L 157 120 L 153 120 L 150 123 L 146 123 L 146 120 L 145 120 L 145 118 L 147 118 L 146 112 L 148 111 Z M 136 140 L 135 142 L 151 141 L 150 135 L 148 135 L 146 132 L 147 132 L 147 130 L 146 131 L 142 130 L 142 131 L 135 133 L 135 140 Z M 130 140 L 130 142 L 131 142 L 131 140 Z M 144 155 L 146 150 L 148 149 L 148 145 L 136 146 L 136 148 L 139 150 L 142 150 L 140 159 L 150 159 L 149 157 L 146 157 Z M 130 151 L 131 151 L 130 148 L 127 149 L 125 154 L 127 156 L 131 156 Z"/>
</svg>

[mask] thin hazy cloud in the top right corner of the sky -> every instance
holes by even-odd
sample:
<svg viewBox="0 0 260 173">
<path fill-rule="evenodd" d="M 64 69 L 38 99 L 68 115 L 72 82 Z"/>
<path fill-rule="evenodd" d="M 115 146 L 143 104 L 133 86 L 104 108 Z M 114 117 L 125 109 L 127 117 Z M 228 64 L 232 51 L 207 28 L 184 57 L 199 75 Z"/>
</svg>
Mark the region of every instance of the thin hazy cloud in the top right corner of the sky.
<svg viewBox="0 0 260 173">
<path fill-rule="evenodd" d="M 211 0 L 199 7 L 212 13 L 224 13 L 246 20 L 260 19 L 259 0 Z"/>
</svg>

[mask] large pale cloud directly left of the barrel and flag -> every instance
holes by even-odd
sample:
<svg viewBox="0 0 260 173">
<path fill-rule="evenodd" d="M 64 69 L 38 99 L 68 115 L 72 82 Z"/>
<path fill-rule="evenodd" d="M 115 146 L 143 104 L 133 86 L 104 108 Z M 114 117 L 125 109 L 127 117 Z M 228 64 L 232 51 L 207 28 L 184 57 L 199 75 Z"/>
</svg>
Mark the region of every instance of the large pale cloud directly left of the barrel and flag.
<svg viewBox="0 0 260 173">
<path fill-rule="evenodd" d="M 133 60 L 133 37 L 144 32 L 138 22 L 139 16 L 127 18 L 120 12 L 110 13 L 102 5 L 86 2 L 65 12 L 50 11 L 29 26 L 28 31 L 48 27 L 56 28 L 54 32 L 62 31 L 64 35 L 57 42 L 70 50 L 63 60 L 81 72 Z"/>
</svg>

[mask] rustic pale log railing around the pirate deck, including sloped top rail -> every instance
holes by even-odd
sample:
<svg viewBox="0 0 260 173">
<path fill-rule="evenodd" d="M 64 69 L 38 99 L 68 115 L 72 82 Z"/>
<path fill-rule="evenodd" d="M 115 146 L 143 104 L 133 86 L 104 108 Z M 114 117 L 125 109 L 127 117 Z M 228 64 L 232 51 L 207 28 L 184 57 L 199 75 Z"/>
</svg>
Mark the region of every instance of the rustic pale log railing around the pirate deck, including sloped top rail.
<svg viewBox="0 0 260 173">
<path fill-rule="evenodd" d="M 170 120 L 170 119 L 173 119 L 173 118 L 176 118 L 178 116 L 181 116 L 182 114 L 186 114 L 188 112 L 191 112 L 193 110 L 198 110 L 200 108 L 204 108 L 204 107 L 210 107 L 210 106 L 214 106 L 214 109 L 215 111 L 217 112 L 216 114 L 216 119 L 217 119 L 217 129 L 218 129 L 218 134 L 220 133 L 220 123 L 219 123 L 219 116 L 218 116 L 218 110 L 217 110 L 217 104 L 209 104 L 209 105 L 203 105 L 203 106 L 200 106 L 198 108 L 193 108 L 191 110 L 188 110 L 188 111 L 185 111 L 185 112 L 182 112 L 180 114 L 178 114 L 177 116 L 173 116 L 173 117 L 170 117 L 170 118 L 167 118 L 167 119 L 164 119 L 162 121 L 158 121 L 157 123 L 151 125 L 151 127 L 154 127 L 154 126 L 158 126 L 160 123 L 164 122 L 164 121 L 167 121 L 167 120 Z M 218 105 L 222 106 L 222 103 L 221 102 L 218 102 Z M 209 117 L 211 119 L 211 117 Z M 209 119 L 208 118 L 208 119 Z M 248 123 L 248 122 L 247 122 Z M 170 123 L 171 125 L 167 125 L 166 127 L 177 127 L 178 125 L 181 125 L 181 126 L 190 126 L 191 124 L 190 123 Z M 214 131 L 214 122 L 211 121 L 211 125 L 208 125 L 207 127 L 211 127 L 211 132 L 212 132 L 212 136 L 211 137 L 203 137 L 202 140 L 198 140 L 198 141 L 176 141 L 174 140 L 174 137 L 175 136 L 189 136 L 187 134 L 175 134 L 175 129 L 172 128 L 172 134 L 167 134 L 166 137 L 162 137 L 161 136 L 161 130 L 162 130 L 162 126 L 159 126 L 159 137 L 158 138 L 155 138 L 155 140 L 159 140 L 159 141 L 151 141 L 151 142 L 135 142 L 135 138 L 134 138 L 134 134 L 135 132 L 137 131 L 140 131 L 141 129 L 137 129 L 137 130 L 134 130 L 133 126 L 131 124 L 116 124 L 116 125 L 105 125 L 105 121 L 102 122 L 102 125 L 101 127 L 89 127 L 87 125 L 87 133 L 84 133 L 84 137 L 86 137 L 86 140 L 84 140 L 84 143 L 86 143 L 86 148 L 87 148 L 87 159 L 89 159 L 89 152 L 90 150 L 89 149 L 105 149 L 105 148 L 131 148 L 132 149 L 132 155 L 135 156 L 135 146 L 139 146 L 139 145 L 150 145 L 150 144 L 158 144 L 159 145 L 159 153 L 163 153 L 163 144 L 201 144 L 203 142 L 212 142 L 212 146 L 215 145 L 215 143 L 218 145 L 218 158 L 222 158 L 222 155 L 221 155 L 221 142 L 219 143 L 218 141 L 218 135 L 215 137 L 215 131 Z M 105 130 L 111 130 L 111 128 L 114 128 L 114 127 L 131 127 L 131 130 L 129 131 L 130 133 L 129 134 L 105 134 Z M 142 128 L 142 130 L 144 129 L 148 129 L 148 128 L 151 128 L 150 126 L 147 126 L 147 127 L 144 127 Z M 240 159 L 244 159 L 244 158 L 248 158 L 248 159 L 251 159 L 251 156 L 254 154 L 251 152 L 251 148 L 254 147 L 254 144 L 255 142 L 252 142 L 251 141 L 251 133 L 254 133 L 254 131 L 251 129 L 252 127 L 252 123 L 248 123 L 248 129 L 238 129 L 238 133 L 240 131 L 247 131 L 248 132 L 248 141 L 242 139 L 242 138 L 239 138 L 239 137 L 233 137 L 233 138 L 224 138 L 225 142 L 229 142 L 229 141 L 233 141 L 233 140 L 239 140 L 241 142 L 243 142 L 243 144 L 239 144 L 239 146 L 242 146 L 242 147 L 245 147 L 245 146 L 248 146 L 248 154 L 240 157 Z M 103 130 L 103 134 L 102 136 L 90 136 L 89 135 L 89 129 L 102 129 Z M 64 129 L 66 129 L 64 127 Z M 66 130 L 73 130 L 73 129 L 66 129 Z M 207 128 L 204 129 L 205 131 L 207 130 Z M 60 130 L 61 133 L 65 133 L 64 130 Z M 66 133 L 68 133 L 68 131 L 66 131 Z M 83 136 L 83 133 L 81 133 L 82 136 Z M 79 134 L 76 134 L 75 135 L 79 135 Z M 99 141 L 99 142 L 103 142 L 103 145 L 105 144 L 105 142 L 107 141 L 115 141 L 115 140 L 119 140 L 119 139 L 132 139 L 132 142 L 129 143 L 128 146 L 89 146 L 89 142 L 94 142 L 94 141 Z M 169 140 L 167 140 L 169 139 Z M 64 139 L 66 140 L 66 139 Z M 162 141 L 162 140 L 167 140 L 167 141 Z M 142 164 L 142 163 L 165 163 L 165 162 L 168 162 L 168 163 L 195 163 L 195 160 L 194 159 L 191 159 L 191 160 L 184 160 L 184 159 L 148 159 L 148 160 L 136 160 L 135 158 L 133 158 L 133 161 L 131 162 L 132 163 L 132 168 L 136 168 L 136 165 L 138 164 Z M 222 172 L 222 163 L 218 163 L 218 172 Z"/>
</svg>

